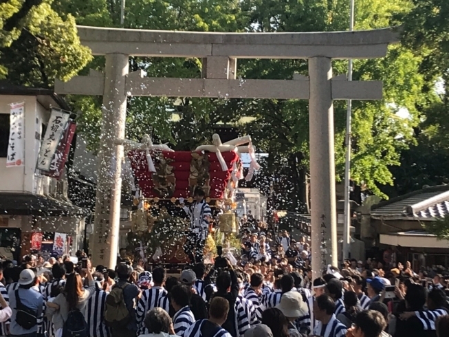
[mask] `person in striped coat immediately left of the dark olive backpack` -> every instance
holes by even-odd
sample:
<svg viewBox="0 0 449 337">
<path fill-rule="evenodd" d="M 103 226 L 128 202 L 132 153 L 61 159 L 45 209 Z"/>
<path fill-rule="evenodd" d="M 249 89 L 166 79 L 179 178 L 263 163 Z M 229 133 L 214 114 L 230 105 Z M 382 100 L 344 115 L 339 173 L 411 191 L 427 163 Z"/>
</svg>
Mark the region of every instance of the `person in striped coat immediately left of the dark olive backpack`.
<svg viewBox="0 0 449 337">
<path fill-rule="evenodd" d="M 89 326 L 89 337 L 111 337 L 111 331 L 105 323 L 105 305 L 107 292 L 103 290 L 105 276 L 101 272 L 94 272 L 96 279 L 95 292 L 92 294 L 85 308 L 84 316 Z"/>
</svg>

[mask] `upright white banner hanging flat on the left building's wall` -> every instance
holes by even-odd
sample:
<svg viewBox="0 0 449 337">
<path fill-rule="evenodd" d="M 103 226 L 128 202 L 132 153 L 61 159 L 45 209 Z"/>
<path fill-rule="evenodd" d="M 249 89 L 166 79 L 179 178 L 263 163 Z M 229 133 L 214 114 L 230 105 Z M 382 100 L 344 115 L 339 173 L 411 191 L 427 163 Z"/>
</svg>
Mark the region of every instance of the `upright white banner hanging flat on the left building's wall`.
<svg viewBox="0 0 449 337">
<path fill-rule="evenodd" d="M 25 102 L 10 105 L 10 140 L 6 167 L 23 166 L 25 152 Z"/>
</svg>

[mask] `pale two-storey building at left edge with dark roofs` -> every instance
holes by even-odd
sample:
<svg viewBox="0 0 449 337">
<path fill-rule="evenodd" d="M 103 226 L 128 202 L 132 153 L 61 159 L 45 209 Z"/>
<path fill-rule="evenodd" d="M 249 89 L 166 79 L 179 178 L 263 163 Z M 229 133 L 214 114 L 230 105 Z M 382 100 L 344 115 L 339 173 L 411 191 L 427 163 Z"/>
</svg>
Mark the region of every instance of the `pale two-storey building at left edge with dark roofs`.
<svg viewBox="0 0 449 337">
<path fill-rule="evenodd" d="M 10 105 L 24 102 L 23 163 L 7 167 Z M 36 169 L 52 107 L 69 109 L 49 89 L 0 83 L 0 254 L 18 260 L 32 249 L 33 233 L 43 234 L 41 250 L 50 250 L 54 233 L 65 234 L 65 252 L 82 248 L 89 212 L 69 200 L 67 170 L 59 180 Z"/>
</svg>

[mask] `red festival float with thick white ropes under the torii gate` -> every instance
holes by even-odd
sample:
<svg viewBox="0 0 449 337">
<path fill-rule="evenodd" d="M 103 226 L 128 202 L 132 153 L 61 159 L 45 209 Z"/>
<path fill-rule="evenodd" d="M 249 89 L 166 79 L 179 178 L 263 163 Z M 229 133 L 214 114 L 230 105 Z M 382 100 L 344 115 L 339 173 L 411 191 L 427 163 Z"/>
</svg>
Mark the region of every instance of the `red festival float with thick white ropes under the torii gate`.
<svg viewBox="0 0 449 337">
<path fill-rule="evenodd" d="M 140 221 L 136 228 L 139 237 L 146 233 L 151 237 L 160 217 L 166 219 L 173 216 L 173 213 L 182 213 L 178 200 L 186 199 L 187 204 L 193 202 L 193 192 L 197 187 L 204 189 L 210 206 L 223 210 L 232 209 L 238 182 L 243 179 L 241 153 L 249 153 L 251 158 L 246 180 L 250 180 L 254 170 L 259 169 L 254 148 L 250 136 L 222 144 L 219 135 L 215 134 L 212 142 L 211 145 L 199 146 L 195 151 L 173 151 L 166 145 L 152 144 L 147 135 L 141 144 L 128 140 L 120 142 L 128 151 L 138 191 L 138 201 L 135 204 L 140 204 L 141 208 L 136 217 Z M 172 224 L 170 227 L 187 225 L 188 221 L 184 220 L 182 226 Z M 164 263 L 184 263 L 184 237 L 179 240 L 168 238 L 165 241 L 169 243 L 161 243 L 160 250 L 156 253 L 158 259 Z"/>
</svg>

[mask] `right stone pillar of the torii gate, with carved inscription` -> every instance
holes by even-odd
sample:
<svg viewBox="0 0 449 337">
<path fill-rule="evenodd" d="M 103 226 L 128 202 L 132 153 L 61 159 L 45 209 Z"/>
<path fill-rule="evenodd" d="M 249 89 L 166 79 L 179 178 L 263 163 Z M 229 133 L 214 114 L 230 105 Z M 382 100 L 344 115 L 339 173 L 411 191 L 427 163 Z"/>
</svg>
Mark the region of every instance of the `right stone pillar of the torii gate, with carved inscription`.
<svg viewBox="0 0 449 337">
<path fill-rule="evenodd" d="M 327 263 L 336 265 L 338 257 L 331 62 L 309 58 L 311 268 L 316 275 Z"/>
</svg>

